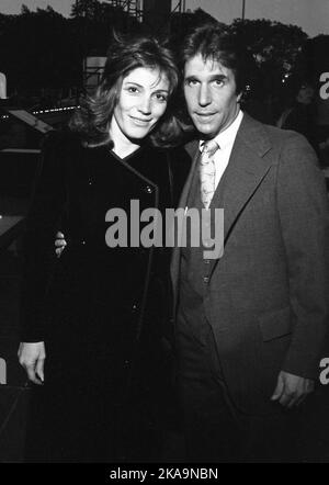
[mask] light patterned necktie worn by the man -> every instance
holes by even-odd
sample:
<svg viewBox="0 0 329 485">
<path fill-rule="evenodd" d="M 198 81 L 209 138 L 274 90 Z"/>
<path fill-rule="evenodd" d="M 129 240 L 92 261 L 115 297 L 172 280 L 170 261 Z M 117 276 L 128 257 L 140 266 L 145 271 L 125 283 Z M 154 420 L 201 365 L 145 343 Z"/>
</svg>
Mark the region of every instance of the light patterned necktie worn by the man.
<svg viewBox="0 0 329 485">
<path fill-rule="evenodd" d="M 215 193 L 215 162 L 214 155 L 219 148 L 217 142 L 211 139 L 204 144 L 200 158 L 200 185 L 201 185 L 201 202 L 208 208 Z"/>
</svg>

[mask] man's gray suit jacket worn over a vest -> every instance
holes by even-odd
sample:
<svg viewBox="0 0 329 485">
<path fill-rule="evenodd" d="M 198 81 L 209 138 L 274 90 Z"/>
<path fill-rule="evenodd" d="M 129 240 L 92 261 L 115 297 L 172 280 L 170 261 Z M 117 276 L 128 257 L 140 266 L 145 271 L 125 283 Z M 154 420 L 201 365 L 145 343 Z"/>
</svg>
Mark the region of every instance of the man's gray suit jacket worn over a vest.
<svg viewBox="0 0 329 485">
<path fill-rule="evenodd" d="M 196 169 L 197 143 L 180 207 Z M 223 192 L 224 256 L 204 298 L 235 404 L 266 413 L 280 370 L 318 379 L 328 327 L 329 211 L 314 150 L 245 114 Z M 216 196 L 216 194 L 215 194 Z M 172 256 L 174 314 L 180 248 Z"/>
</svg>

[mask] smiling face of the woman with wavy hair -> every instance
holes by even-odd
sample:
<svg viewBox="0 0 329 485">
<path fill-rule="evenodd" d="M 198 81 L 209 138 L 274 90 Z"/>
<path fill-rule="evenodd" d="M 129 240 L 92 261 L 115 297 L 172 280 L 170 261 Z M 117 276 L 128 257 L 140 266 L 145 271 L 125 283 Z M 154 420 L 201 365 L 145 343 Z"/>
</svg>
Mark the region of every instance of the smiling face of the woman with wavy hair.
<svg viewBox="0 0 329 485">
<path fill-rule="evenodd" d="M 117 134 L 135 142 L 145 138 L 164 113 L 168 97 L 169 81 L 158 69 L 134 69 L 122 82 L 111 123 L 112 137 Z"/>
</svg>

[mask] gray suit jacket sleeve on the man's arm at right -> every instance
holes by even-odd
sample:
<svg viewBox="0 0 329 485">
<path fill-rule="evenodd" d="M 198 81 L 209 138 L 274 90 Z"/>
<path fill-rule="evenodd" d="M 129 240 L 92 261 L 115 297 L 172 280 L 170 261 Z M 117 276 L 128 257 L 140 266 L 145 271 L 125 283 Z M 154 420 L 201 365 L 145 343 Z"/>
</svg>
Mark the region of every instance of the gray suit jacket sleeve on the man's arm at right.
<svg viewBox="0 0 329 485">
<path fill-rule="evenodd" d="M 294 322 L 283 370 L 317 379 L 328 330 L 328 196 L 313 148 L 294 133 L 282 149 L 277 206 Z"/>
</svg>

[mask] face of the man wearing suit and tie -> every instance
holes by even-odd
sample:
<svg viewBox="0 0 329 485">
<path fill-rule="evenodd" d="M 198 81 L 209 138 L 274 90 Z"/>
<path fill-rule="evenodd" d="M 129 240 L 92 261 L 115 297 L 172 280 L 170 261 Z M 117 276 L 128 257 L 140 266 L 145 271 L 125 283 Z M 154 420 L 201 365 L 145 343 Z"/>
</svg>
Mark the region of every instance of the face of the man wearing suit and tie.
<svg viewBox="0 0 329 485">
<path fill-rule="evenodd" d="M 241 94 L 231 69 L 198 54 L 185 64 L 184 95 L 189 114 L 204 138 L 214 138 L 234 121 Z"/>
</svg>

